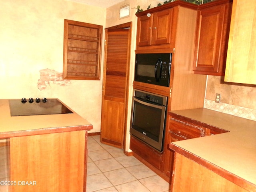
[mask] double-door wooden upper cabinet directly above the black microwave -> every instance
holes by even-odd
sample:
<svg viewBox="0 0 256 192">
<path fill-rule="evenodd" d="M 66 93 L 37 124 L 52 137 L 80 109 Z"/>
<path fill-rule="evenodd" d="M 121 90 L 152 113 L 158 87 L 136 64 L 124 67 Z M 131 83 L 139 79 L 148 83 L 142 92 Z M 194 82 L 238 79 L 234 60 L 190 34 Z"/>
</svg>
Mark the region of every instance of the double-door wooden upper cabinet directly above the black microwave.
<svg viewBox="0 0 256 192">
<path fill-rule="evenodd" d="M 195 4 L 176 0 L 137 13 L 136 53 L 173 53 L 177 46 L 176 39 L 180 20 L 182 20 L 182 24 L 186 25 L 188 23 L 186 17 L 191 14 L 189 10 L 196 11 L 197 8 L 198 6 Z M 183 9 L 188 12 L 181 14 L 180 10 Z M 185 38 L 188 36 L 187 33 L 194 35 L 194 31 L 182 31 Z"/>
</svg>

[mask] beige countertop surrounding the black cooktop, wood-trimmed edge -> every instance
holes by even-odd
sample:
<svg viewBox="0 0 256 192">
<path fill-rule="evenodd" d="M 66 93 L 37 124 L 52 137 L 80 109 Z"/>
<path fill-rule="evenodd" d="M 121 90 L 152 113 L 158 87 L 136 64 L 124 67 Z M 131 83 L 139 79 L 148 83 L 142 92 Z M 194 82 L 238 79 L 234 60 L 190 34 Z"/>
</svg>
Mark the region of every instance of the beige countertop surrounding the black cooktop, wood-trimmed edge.
<svg viewBox="0 0 256 192">
<path fill-rule="evenodd" d="M 73 113 L 11 116 L 8 101 L 8 99 L 0 100 L 0 139 L 92 129 L 90 122 L 70 108 Z"/>
</svg>

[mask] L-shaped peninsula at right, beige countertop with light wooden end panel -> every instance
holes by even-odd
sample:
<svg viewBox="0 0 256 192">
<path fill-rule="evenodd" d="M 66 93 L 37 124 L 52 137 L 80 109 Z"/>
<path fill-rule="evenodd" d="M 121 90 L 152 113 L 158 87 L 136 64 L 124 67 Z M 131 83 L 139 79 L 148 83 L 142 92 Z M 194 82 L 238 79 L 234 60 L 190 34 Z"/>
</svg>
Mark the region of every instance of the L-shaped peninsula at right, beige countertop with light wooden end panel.
<svg viewBox="0 0 256 192">
<path fill-rule="evenodd" d="M 229 131 L 170 143 L 172 192 L 256 192 L 256 121 L 208 109 L 172 113 Z"/>
</svg>

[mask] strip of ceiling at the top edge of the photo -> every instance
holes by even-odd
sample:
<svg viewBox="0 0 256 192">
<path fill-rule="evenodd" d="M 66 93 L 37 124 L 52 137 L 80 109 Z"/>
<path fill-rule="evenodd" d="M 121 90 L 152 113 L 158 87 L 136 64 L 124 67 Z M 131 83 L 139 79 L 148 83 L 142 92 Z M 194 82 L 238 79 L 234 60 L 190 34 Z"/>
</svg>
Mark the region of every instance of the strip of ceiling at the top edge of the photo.
<svg viewBox="0 0 256 192">
<path fill-rule="evenodd" d="M 88 5 L 92 5 L 92 6 L 108 8 L 115 4 L 118 4 L 120 2 L 124 2 L 125 0 L 70 0 L 70 1 L 88 4 Z"/>
</svg>

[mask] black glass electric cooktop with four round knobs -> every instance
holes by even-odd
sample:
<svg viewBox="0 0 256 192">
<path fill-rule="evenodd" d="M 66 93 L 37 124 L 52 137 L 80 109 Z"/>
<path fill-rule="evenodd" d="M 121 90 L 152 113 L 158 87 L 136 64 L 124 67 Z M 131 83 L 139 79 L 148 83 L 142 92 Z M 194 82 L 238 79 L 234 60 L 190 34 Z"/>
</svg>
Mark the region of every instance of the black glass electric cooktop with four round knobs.
<svg viewBox="0 0 256 192">
<path fill-rule="evenodd" d="M 26 98 L 9 100 L 11 116 L 73 113 L 58 99 Z"/>
</svg>

